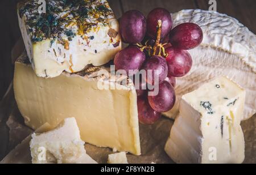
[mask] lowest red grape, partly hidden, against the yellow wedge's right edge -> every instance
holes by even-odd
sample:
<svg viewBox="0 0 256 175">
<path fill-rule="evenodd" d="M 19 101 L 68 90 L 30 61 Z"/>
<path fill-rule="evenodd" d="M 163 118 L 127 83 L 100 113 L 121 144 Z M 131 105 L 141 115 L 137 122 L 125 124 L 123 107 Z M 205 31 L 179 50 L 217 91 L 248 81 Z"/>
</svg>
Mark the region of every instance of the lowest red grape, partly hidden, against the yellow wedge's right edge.
<svg viewBox="0 0 256 175">
<path fill-rule="evenodd" d="M 139 122 L 144 125 L 151 125 L 161 117 L 161 113 L 153 110 L 144 96 L 138 97 L 137 106 Z"/>
</svg>

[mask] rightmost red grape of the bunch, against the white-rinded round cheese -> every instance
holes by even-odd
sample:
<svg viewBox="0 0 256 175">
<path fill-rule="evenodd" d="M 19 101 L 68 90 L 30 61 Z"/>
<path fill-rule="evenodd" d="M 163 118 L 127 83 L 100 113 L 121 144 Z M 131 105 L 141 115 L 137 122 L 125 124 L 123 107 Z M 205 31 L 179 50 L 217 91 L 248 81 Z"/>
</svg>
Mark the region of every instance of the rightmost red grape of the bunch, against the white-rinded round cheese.
<svg viewBox="0 0 256 175">
<path fill-rule="evenodd" d="M 203 31 L 195 23 L 182 23 L 170 32 L 170 42 L 175 48 L 193 49 L 203 41 Z"/>
</svg>

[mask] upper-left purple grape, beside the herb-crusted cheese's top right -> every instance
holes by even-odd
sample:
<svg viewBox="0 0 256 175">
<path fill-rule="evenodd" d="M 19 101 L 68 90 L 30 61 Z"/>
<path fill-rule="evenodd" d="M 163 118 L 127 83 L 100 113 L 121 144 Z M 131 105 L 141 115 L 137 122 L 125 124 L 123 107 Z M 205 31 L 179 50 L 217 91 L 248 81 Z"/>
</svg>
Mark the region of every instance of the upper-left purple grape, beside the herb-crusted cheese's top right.
<svg viewBox="0 0 256 175">
<path fill-rule="evenodd" d="M 146 18 L 138 10 L 129 10 L 120 19 L 122 41 L 129 44 L 141 42 L 146 35 Z"/>
</svg>

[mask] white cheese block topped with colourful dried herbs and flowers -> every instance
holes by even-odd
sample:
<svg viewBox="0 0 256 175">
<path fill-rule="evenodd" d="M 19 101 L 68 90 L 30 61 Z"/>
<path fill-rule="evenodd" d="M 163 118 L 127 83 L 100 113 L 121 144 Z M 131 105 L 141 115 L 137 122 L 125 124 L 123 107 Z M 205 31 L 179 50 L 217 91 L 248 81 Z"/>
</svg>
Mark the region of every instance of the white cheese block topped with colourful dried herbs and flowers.
<svg viewBox="0 0 256 175">
<path fill-rule="evenodd" d="M 52 78 L 104 65 L 121 50 L 119 26 L 105 0 L 37 0 L 18 4 L 19 27 L 37 76 Z"/>
</svg>

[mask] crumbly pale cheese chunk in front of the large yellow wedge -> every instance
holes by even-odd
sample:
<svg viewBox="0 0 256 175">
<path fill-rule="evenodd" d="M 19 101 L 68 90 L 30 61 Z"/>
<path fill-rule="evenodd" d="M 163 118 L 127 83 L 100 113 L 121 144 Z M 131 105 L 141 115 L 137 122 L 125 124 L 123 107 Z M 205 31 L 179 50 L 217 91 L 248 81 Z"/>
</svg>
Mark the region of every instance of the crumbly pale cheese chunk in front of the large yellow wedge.
<svg viewBox="0 0 256 175">
<path fill-rule="evenodd" d="M 65 118 L 55 129 L 32 134 L 32 163 L 96 163 L 84 149 L 75 118 Z"/>
</svg>

